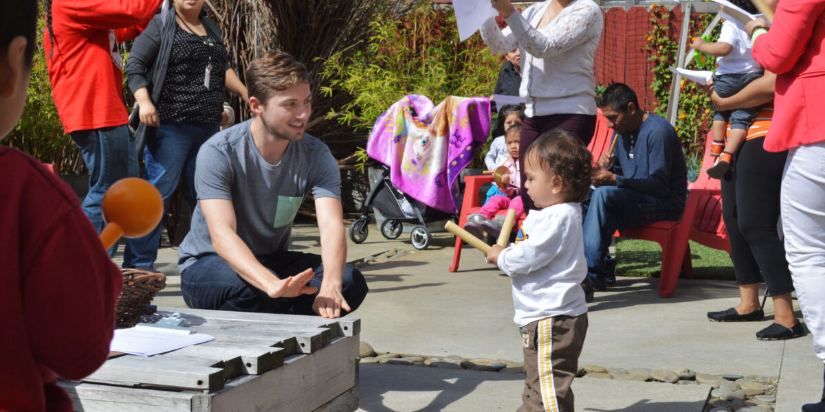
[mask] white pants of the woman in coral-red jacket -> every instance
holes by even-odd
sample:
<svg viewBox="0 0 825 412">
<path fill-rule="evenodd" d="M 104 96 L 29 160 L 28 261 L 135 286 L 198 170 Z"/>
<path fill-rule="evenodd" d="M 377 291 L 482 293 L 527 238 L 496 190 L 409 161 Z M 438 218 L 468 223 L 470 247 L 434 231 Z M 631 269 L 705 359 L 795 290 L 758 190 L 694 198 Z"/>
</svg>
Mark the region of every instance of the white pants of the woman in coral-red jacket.
<svg viewBox="0 0 825 412">
<path fill-rule="evenodd" d="M 796 297 L 813 351 L 825 362 L 825 141 L 788 152 L 781 208 Z"/>
</svg>

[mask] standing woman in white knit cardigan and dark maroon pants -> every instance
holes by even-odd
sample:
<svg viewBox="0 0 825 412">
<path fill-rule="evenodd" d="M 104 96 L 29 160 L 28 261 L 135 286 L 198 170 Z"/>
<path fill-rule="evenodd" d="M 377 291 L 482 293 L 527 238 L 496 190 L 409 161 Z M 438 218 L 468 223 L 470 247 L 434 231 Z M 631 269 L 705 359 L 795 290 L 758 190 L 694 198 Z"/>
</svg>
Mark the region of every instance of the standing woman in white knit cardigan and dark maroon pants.
<svg viewBox="0 0 825 412">
<path fill-rule="evenodd" d="M 521 54 L 519 91 L 526 119 L 520 152 L 555 128 L 589 143 L 596 129 L 593 57 L 603 26 L 599 6 L 592 0 L 545 0 L 520 13 L 510 0 L 493 0 L 492 5 L 509 26 L 500 30 L 493 18 L 485 21 L 480 30 L 484 43 L 493 54 L 516 48 Z M 525 168 L 520 166 L 524 185 Z M 523 186 L 521 193 L 527 193 Z M 535 209 L 529 196 L 524 200 L 526 208 Z"/>
</svg>

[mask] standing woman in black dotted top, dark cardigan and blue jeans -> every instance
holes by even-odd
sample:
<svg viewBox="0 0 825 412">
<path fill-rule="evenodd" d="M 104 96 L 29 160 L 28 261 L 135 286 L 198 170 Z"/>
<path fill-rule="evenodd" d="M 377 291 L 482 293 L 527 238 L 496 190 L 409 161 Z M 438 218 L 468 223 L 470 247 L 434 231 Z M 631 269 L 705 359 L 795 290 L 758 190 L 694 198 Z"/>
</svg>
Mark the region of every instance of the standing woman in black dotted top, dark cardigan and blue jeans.
<svg viewBox="0 0 825 412">
<path fill-rule="evenodd" d="M 164 208 L 182 176 L 194 211 L 196 157 L 200 145 L 218 132 L 224 89 L 248 99 L 229 67 L 218 26 L 203 13 L 204 2 L 175 0 L 172 9 L 155 16 L 134 40 L 126 65 L 142 123 L 137 134 L 146 142 L 144 179 L 158 188 Z M 127 241 L 124 267 L 154 271 L 159 237 L 160 225 Z"/>
</svg>

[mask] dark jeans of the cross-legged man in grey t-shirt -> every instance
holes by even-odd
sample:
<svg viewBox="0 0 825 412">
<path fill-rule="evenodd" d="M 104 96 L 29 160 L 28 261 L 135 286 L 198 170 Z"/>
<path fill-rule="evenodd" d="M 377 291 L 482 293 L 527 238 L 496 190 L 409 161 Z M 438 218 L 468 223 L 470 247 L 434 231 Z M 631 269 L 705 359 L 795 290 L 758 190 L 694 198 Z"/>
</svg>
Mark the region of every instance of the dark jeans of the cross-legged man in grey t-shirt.
<svg viewBox="0 0 825 412">
<path fill-rule="evenodd" d="M 323 265 L 319 255 L 283 251 L 258 259 L 279 279 L 286 279 L 305 269 L 313 268 L 315 276 L 307 285 L 321 288 Z M 364 275 L 351 265 L 346 265 L 341 292 L 352 311 L 361 305 L 368 291 Z M 315 315 L 312 306 L 315 297 L 318 296 L 318 293 L 314 293 L 298 297 L 269 297 L 262 290 L 243 280 L 226 260 L 217 254 L 201 257 L 181 273 L 181 293 L 186 305 L 195 309 L 290 315 Z M 347 311 L 342 310 L 342 315 L 346 313 Z"/>
</svg>

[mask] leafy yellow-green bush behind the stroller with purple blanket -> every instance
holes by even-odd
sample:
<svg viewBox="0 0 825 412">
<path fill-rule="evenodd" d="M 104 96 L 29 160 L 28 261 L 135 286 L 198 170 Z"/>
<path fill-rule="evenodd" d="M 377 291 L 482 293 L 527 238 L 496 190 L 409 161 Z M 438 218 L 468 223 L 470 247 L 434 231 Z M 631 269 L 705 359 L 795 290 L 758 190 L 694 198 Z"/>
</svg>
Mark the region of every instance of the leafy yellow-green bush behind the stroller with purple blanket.
<svg viewBox="0 0 825 412">
<path fill-rule="evenodd" d="M 455 15 L 428 2 L 400 21 L 379 18 L 370 24 L 369 46 L 347 57 L 337 53 L 323 65 L 322 96 L 344 91 L 351 101 L 328 111 L 328 119 L 355 130 L 362 142 L 375 119 L 408 94 L 427 96 L 436 105 L 447 96 L 490 96 L 501 58 L 478 33 L 459 41 Z M 363 152 L 358 147 L 358 152 Z M 479 151 L 471 167 L 483 165 Z M 361 157 L 363 159 L 363 157 Z M 363 167 L 363 162 L 360 163 Z"/>
</svg>

